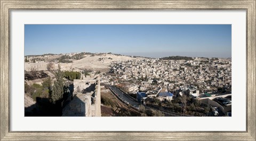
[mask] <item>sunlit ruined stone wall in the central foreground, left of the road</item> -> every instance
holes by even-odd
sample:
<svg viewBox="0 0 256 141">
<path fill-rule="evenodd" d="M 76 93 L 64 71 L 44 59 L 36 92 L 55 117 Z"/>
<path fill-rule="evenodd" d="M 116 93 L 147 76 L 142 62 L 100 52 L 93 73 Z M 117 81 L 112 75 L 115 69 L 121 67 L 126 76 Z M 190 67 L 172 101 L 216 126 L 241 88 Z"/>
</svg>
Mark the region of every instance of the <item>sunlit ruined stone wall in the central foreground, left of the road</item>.
<svg viewBox="0 0 256 141">
<path fill-rule="evenodd" d="M 74 80 L 73 100 L 62 110 L 62 116 L 100 117 L 100 79 Z"/>
</svg>

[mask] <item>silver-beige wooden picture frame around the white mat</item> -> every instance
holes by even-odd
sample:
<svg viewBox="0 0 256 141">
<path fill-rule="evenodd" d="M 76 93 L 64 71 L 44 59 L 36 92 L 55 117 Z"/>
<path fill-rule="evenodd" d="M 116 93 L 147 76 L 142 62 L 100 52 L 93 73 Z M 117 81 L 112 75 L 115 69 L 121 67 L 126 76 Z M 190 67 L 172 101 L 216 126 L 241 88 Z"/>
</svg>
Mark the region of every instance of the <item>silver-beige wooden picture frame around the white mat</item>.
<svg viewBox="0 0 256 141">
<path fill-rule="evenodd" d="M 255 0 L 253 1 L 2 1 L 0 140 L 255 140 Z M 246 131 L 10 131 L 10 11 L 12 9 L 246 10 Z"/>
</svg>

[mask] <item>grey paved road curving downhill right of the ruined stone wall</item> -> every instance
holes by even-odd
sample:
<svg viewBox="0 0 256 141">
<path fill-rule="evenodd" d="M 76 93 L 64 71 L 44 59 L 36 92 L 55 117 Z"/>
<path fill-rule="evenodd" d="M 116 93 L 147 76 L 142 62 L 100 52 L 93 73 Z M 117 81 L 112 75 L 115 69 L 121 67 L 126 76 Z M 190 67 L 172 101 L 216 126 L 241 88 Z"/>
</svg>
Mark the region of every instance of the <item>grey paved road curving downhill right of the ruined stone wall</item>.
<svg viewBox="0 0 256 141">
<path fill-rule="evenodd" d="M 114 91 L 114 93 L 119 96 L 121 99 L 123 99 L 124 102 L 135 105 L 136 107 L 139 107 L 139 103 L 133 101 L 133 99 L 131 99 L 129 96 L 127 96 L 127 94 L 123 93 L 121 90 L 119 90 L 118 88 L 114 87 L 114 86 L 109 86 L 109 88 L 111 90 Z"/>
</svg>

